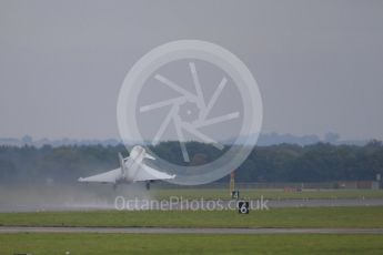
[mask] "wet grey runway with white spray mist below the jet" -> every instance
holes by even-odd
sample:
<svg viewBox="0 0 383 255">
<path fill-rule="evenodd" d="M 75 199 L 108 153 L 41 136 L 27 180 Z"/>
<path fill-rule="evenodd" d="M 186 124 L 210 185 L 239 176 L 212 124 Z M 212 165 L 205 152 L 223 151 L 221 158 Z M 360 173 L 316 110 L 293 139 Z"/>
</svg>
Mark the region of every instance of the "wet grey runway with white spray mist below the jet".
<svg viewBox="0 0 383 255">
<path fill-rule="evenodd" d="M 0 212 L 44 211 L 229 211 L 236 210 L 236 200 L 188 198 L 178 196 L 178 190 L 170 190 L 171 196 L 159 198 L 158 191 L 148 192 L 142 185 L 121 186 L 9 186 L 1 187 Z M 383 206 L 383 198 L 244 198 L 251 211 L 282 207 L 332 207 L 332 206 Z"/>
</svg>

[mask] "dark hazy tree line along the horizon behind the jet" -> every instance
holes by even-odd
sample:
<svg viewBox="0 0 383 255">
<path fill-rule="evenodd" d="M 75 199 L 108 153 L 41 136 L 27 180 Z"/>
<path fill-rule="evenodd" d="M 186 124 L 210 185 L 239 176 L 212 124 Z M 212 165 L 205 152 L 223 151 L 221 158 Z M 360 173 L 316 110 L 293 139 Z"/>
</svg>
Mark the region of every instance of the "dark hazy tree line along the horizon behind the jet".
<svg viewBox="0 0 383 255">
<path fill-rule="evenodd" d="M 187 144 L 188 164 L 198 165 L 216 159 L 221 151 L 210 144 Z M 225 150 L 229 147 L 226 146 Z M 162 159 L 183 164 L 178 142 L 164 142 L 151 150 Z M 0 146 L 0 183 L 75 182 L 79 176 L 118 167 L 123 145 L 72 145 L 52 147 Z M 128 153 L 124 153 L 125 155 Z M 332 182 L 374 180 L 383 175 L 383 144 L 372 141 L 363 146 L 279 144 L 256 146 L 236 170 L 239 182 Z M 221 180 L 224 181 L 224 180 Z"/>
</svg>

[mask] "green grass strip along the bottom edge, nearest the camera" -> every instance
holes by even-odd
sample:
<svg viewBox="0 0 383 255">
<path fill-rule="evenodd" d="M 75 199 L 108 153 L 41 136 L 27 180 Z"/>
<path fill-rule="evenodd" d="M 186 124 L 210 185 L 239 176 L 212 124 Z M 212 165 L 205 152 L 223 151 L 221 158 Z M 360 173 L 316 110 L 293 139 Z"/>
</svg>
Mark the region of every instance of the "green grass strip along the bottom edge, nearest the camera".
<svg viewBox="0 0 383 255">
<path fill-rule="evenodd" d="M 0 254 L 382 254 L 382 235 L 0 234 Z"/>
</svg>

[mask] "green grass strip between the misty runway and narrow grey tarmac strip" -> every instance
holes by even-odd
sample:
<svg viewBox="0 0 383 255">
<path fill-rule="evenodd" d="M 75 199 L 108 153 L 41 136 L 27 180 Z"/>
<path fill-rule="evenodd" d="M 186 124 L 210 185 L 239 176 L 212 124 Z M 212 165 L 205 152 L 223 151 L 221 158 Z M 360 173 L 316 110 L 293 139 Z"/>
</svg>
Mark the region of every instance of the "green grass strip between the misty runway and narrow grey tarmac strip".
<svg viewBox="0 0 383 255">
<path fill-rule="evenodd" d="M 383 206 L 251 211 L 90 211 L 0 213 L 7 226 L 383 227 Z"/>
</svg>

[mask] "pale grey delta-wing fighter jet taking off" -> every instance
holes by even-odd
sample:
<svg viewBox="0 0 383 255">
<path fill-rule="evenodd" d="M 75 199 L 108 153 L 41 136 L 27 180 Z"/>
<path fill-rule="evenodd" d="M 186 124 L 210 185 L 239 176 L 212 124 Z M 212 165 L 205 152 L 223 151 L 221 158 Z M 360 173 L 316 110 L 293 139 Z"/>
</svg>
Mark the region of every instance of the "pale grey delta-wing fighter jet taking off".
<svg viewBox="0 0 383 255">
<path fill-rule="evenodd" d="M 110 183 L 113 184 L 114 190 L 118 184 L 145 182 L 147 190 L 150 188 L 150 183 L 155 180 L 174 178 L 175 175 L 154 170 L 144 164 L 144 159 L 155 160 L 152 155 L 148 154 L 142 146 L 134 146 L 130 152 L 129 157 L 123 159 L 119 153 L 120 167 L 97 174 L 90 177 L 80 177 L 79 182 L 84 183 Z"/>
</svg>

